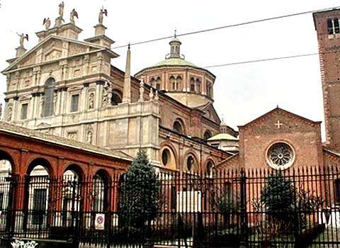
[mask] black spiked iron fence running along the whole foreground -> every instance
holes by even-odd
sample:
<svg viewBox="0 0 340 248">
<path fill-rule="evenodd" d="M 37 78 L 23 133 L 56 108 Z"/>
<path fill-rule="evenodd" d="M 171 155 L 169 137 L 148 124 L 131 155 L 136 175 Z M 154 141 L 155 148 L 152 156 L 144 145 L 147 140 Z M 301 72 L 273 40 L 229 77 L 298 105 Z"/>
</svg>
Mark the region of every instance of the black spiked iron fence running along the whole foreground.
<svg viewBox="0 0 340 248">
<path fill-rule="evenodd" d="M 79 247 L 340 247 L 338 167 L 163 171 L 156 178 L 154 201 L 140 196 L 150 186 L 145 178 L 131 183 L 124 174 L 1 178 L 1 239 Z M 129 194 L 128 184 L 136 186 Z"/>
</svg>

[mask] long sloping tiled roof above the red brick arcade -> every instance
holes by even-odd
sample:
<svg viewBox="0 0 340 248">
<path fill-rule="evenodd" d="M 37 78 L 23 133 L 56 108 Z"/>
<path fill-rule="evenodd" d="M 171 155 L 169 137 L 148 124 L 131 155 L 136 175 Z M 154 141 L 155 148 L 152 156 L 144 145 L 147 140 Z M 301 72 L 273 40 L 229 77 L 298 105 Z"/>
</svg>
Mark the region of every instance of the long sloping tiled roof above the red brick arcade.
<svg viewBox="0 0 340 248">
<path fill-rule="evenodd" d="M 133 159 L 130 155 L 125 154 L 124 152 L 111 151 L 103 147 L 91 145 L 89 143 L 79 142 L 76 140 L 69 140 L 65 137 L 42 133 L 39 130 L 31 130 L 28 128 L 23 128 L 21 126 L 6 123 L 4 121 L 0 121 L 0 131 L 6 132 L 6 133 L 15 133 L 17 135 L 23 135 L 23 136 L 30 137 L 36 140 L 43 140 L 45 142 L 51 142 L 51 143 L 55 143 L 58 145 L 72 147 L 74 149 L 85 150 L 86 152 L 99 153 L 99 154 L 103 154 L 109 157 L 115 157 L 118 159 L 125 159 L 129 161 L 132 161 Z"/>
</svg>

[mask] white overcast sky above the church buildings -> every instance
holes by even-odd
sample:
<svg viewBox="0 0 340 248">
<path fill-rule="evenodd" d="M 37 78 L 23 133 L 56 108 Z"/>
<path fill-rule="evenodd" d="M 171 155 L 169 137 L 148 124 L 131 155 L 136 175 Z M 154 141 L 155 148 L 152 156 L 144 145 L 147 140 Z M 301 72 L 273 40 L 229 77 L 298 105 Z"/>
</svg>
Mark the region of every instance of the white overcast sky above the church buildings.
<svg viewBox="0 0 340 248">
<path fill-rule="evenodd" d="M 60 0 L 0 0 L 0 68 L 15 57 L 18 33 L 28 33 L 25 47 L 38 43 L 35 32 L 43 30 L 42 20 L 50 17 L 52 26 L 58 16 Z M 76 24 L 83 29 L 80 40 L 94 36 L 101 6 L 108 9 L 103 24 L 106 35 L 115 46 L 153 38 L 188 33 L 195 30 L 227 26 L 245 21 L 283 16 L 340 6 L 335 0 L 66 0 L 64 19 L 75 8 Z M 281 18 L 246 26 L 225 28 L 208 33 L 179 37 L 181 53 L 186 60 L 206 67 L 215 64 L 285 57 L 317 52 L 317 35 L 312 13 Z M 164 60 L 169 40 L 131 47 L 132 73 Z M 126 48 L 115 49 L 120 57 L 111 63 L 125 69 Z M 305 118 L 324 121 L 319 57 L 309 56 L 288 60 L 256 62 L 210 68 L 216 75 L 215 108 L 227 125 L 237 128 L 277 105 Z M 0 76 L 0 98 L 6 90 L 6 77 Z"/>
</svg>

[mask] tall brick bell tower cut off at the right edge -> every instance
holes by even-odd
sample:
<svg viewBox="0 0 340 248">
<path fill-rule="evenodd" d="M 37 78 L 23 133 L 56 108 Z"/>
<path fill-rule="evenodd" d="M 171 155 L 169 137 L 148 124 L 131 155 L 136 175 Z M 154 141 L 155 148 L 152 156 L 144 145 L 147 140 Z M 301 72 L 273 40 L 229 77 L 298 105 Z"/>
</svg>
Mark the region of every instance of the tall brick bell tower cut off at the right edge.
<svg viewBox="0 0 340 248">
<path fill-rule="evenodd" d="M 340 152 L 340 9 L 313 13 L 324 96 L 327 146 Z"/>
</svg>

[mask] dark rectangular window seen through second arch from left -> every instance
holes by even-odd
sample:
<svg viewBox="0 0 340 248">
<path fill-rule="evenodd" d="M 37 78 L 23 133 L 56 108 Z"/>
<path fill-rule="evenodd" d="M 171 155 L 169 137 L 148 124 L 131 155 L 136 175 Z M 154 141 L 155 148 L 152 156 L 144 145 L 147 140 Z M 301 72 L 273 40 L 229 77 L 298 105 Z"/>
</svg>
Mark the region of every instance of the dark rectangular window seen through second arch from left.
<svg viewBox="0 0 340 248">
<path fill-rule="evenodd" d="M 35 188 L 33 193 L 33 218 L 34 225 L 42 225 L 46 215 L 46 188 Z"/>
</svg>

